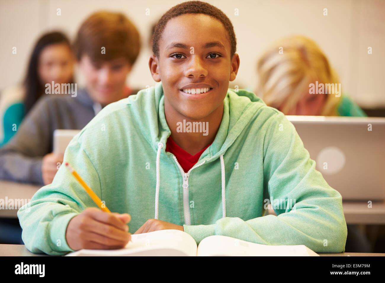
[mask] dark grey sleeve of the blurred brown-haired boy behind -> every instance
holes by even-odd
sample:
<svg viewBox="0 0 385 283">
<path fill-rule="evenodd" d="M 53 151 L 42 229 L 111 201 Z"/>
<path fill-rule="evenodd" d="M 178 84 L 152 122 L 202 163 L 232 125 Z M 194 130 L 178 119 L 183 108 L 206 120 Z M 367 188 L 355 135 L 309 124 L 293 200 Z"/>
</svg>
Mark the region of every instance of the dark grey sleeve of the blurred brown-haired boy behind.
<svg viewBox="0 0 385 283">
<path fill-rule="evenodd" d="M 0 148 L 0 179 L 44 184 L 42 160 L 52 144 L 48 108 L 47 99 L 42 97 L 16 134 Z"/>
</svg>

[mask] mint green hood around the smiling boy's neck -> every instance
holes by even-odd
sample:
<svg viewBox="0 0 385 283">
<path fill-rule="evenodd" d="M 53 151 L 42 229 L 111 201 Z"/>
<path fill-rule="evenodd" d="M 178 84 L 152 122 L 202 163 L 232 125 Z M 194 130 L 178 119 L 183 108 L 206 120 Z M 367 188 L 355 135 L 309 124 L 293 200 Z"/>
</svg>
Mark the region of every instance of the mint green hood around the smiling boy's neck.
<svg viewBox="0 0 385 283">
<path fill-rule="evenodd" d="M 139 95 L 154 95 L 154 100 L 140 99 Z M 162 154 L 169 154 L 165 150 L 166 141 L 171 135 L 171 131 L 164 114 L 162 82 L 157 82 L 154 87 L 141 90 L 137 95 L 131 95 L 127 99 L 132 105 L 141 103 L 141 107 L 133 107 L 133 111 L 137 112 L 134 113 L 134 117 L 137 117 L 136 122 L 139 123 L 140 127 L 149 129 L 150 134 L 146 136 L 147 141 L 152 144 L 155 151 L 158 151 L 158 143 L 161 142 L 163 144 Z M 224 154 L 251 118 L 256 115 L 258 108 L 263 105 L 265 105 L 264 102 L 252 92 L 244 89 L 235 92 L 233 89 L 228 89 L 223 103 L 223 117 L 216 137 L 213 144 L 202 153 L 199 161 L 205 159 L 206 162 L 212 162 Z M 146 119 L 143 119 L 144 117 Z"/>
</svg>

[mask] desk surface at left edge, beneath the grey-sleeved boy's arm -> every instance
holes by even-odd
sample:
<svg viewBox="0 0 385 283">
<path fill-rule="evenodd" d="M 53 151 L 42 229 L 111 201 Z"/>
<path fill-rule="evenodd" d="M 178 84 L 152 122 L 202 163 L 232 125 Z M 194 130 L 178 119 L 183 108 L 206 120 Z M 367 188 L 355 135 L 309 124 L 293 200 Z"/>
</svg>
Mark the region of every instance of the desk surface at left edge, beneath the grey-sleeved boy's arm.
<svg viewBox="0 0 385 283">
<path fill-rule="evenodd" d="M 18 209 L 27 203 L 41 187 L 42 185 L 0 180 L 0 199 L 4 202 L 12 199 L 15 206 L 14 209 L 0 209 L 0 218 L 17 218 Z"/>
</svg>

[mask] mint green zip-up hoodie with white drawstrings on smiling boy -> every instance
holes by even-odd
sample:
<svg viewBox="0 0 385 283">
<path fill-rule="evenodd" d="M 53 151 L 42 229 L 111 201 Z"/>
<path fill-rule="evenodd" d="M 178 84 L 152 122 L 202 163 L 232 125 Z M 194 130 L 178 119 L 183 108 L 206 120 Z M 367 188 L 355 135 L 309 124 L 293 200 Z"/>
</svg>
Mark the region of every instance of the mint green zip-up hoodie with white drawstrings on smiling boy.
<svg viewBox="0 0 385 283">
<path fill-rule="evenodd" d="M 170 134 L 158 82 L 104 107 L 72 139 L 64 162 L 110 211 L 131 214 L 131 233 L 156 218 L 183 225 L 197 244 L 224 235 L 321 253 L 345 250 L 340 193 L 316 171 L 293 124 L 252 92 L 228 89 L 214 142 L 189 172 L 165 151 Z M 264 216 L 269 201 L 277 216 Z M 90 206 L 96 204 L 61 166 L 52 184 L 18 211 L 25 246 L 49 255 L 73 251 L 67 224 Z"/>
</svg>

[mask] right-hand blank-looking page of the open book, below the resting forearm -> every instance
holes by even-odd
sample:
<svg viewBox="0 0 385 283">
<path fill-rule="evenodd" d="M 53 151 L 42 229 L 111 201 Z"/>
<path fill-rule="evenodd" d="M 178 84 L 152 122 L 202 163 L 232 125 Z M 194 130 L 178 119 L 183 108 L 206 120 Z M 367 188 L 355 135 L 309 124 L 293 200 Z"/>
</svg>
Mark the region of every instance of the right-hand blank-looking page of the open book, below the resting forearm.
<svg viewBox="0 0 385 283">
<path fill-rule="evenodd" d="M 228 236 L 209 236 L 198 246 L 197 256 L 319 256 L 304 245 L 270 246 Z"/>
</svg>

